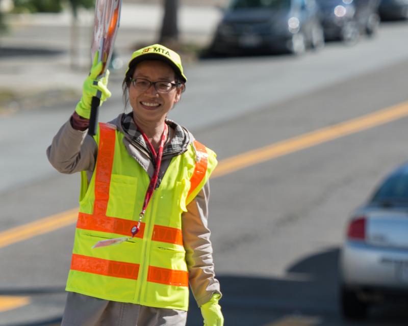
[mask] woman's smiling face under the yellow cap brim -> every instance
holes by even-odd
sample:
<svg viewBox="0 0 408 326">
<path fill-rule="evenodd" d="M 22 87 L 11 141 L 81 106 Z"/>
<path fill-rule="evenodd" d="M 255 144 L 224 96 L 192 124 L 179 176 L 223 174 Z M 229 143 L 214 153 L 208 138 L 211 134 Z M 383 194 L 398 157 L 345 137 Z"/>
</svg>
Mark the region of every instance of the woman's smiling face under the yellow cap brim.
<svg viewBox="0 0 408 326">
<path fill-rule="evenodd" d="M 144 78 L 150 82 L 175 82 L 174 70 L 157 60 L 142 61 L 136 66 L 133 78 Z M 174 87 L 169 93 L 158 93 L 153 85 L 145 91 L 136 89 L 131 83 L 129 102 L 137 120 L 144 122 L 164 121 L 173 105 L 180 100 L 181 88 Z"/>
</svg>

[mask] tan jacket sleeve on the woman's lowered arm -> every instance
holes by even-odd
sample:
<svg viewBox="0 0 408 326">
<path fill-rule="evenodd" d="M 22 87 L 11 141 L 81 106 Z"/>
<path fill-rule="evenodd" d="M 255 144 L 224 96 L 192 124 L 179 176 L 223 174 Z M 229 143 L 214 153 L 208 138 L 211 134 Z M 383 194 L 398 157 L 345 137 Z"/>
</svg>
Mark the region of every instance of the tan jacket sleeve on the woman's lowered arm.
<svg viewBox="0 0 408 326">
<path fill-rule="evenodd" d="M 187 212 L 182 216 L 189 283 L 198 307 L 208 302 L 214 293 L 221 294 L 214 273 L 213 247 L 208 228 L 209 195 L 210 187 L 207 182 L 187 205 Z"/>
</svg>

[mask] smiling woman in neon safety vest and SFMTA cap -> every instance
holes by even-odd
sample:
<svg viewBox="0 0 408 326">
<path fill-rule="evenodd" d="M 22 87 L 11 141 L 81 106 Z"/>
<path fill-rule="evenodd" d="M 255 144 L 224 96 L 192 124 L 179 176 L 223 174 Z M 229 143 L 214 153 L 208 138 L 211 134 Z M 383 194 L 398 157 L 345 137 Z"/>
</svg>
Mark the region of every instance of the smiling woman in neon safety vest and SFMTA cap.
<svg viewBox="0 0 408 326">
<path fill-rule="evenodd" d="M 94 80 L 101 68 L 47 149 L 82 179 L 62 324 L 185 325 L 190 285 L 204 324 L 222 325 L 207 227 L 215 153 L 166 119 L 185 90 L 180 56 L 160 44 L 135 51 L 122 84 L 132 112 L 90 137 L 92 96 L 111 96 L 109 71 Z"/>
</svg>

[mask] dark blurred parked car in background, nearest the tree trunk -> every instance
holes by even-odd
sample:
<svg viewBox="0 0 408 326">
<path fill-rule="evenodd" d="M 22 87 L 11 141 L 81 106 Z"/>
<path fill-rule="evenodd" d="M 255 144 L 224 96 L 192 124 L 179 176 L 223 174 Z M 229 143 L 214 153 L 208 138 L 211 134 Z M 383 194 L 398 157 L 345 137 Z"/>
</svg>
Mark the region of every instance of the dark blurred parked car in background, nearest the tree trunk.
<svg viewBox="0 0 408 326">
<path fill-rule="evenodd" d="M 324 45 L 316 0 L 232 0 L 210 51 L 291 52 Z"/>
</svg>

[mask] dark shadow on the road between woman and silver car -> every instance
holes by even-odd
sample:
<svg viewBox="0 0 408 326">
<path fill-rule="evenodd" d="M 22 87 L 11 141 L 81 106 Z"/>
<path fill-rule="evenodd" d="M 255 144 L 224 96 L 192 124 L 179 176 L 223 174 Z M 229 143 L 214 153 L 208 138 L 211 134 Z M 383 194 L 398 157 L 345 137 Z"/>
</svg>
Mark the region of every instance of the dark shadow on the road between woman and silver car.
<svg viewBox="0 0 408 326">
<path fill-rule="evenodd" d="M 343 320 L 338 309 L 338 257 L 338 248 L 304 257 L 291 265 L 283 278 L 218 277 L 223 292 L 220 304 L 225 326 L 408 324 L 406 307 L 396 305 L 374 308 L 365 321 Z M 202 326 L 192 295 L 187 325 Z"/>
</svg>

